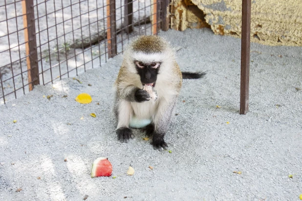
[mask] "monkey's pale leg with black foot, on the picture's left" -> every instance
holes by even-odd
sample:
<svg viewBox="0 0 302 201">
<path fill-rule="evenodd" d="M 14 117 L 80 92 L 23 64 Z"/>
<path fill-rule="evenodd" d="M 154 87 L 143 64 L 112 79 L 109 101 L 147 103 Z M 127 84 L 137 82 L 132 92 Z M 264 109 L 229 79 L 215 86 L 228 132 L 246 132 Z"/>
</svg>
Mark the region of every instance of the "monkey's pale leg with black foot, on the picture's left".
<svg viewBox="0 0 302 201">
<path fill-rule="evenodd" d="M 118 103 L 117 111 L 117 130 L 116 134 L 118 140 L 121 142 L 129 142 L 129 138 L 134 138 L 131 129 L 129 129 L 129 122 L 132 116 L 132 108 L 128 101 L 121 100 Z"/>
</svg>

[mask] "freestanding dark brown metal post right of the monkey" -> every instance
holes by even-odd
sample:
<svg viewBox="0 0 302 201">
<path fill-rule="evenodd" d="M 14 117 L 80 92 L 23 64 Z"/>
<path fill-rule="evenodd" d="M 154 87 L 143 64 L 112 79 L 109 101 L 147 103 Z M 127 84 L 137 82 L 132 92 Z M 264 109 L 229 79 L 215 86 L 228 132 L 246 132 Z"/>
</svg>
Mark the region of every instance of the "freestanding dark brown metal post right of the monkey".
<svg viewBox="0 0 302 201">
<path fill-rule="evenodd" d="M 240 114 L 249 110 L 251 0 L 242 0 Z"/>
</svg>

